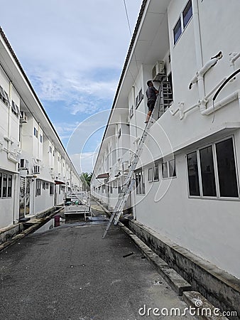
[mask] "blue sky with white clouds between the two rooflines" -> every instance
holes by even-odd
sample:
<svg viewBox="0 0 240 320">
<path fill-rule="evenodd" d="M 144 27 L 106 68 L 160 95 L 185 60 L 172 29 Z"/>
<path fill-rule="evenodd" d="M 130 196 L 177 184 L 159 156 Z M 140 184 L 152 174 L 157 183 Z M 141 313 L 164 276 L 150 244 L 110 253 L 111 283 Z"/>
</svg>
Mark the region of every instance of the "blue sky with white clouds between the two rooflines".
<svg viewBox="0 0 240 320">
<path fill-rule="evenodd" d="M 141 3 L 0 0 L 0 26 L 79 173 L 92 172 Z"/>
</svg>

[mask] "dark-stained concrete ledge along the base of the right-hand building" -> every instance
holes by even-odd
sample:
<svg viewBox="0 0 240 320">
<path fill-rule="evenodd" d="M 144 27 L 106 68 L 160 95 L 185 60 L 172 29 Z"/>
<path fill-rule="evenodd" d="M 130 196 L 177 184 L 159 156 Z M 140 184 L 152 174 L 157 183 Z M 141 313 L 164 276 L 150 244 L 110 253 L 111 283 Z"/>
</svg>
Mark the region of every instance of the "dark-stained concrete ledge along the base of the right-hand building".
<svg viewBox="0 0 240 320">
<path fill-rule="evenodd" d="M 240 279 L 220 270 L 210 262 L 192 254 L 136 220 L 129 228 L 157 255 L 222 311 L 234 310 L 240 316 Z M 229 319 L 238 319 L 229 316 Z"/>
</svg>

